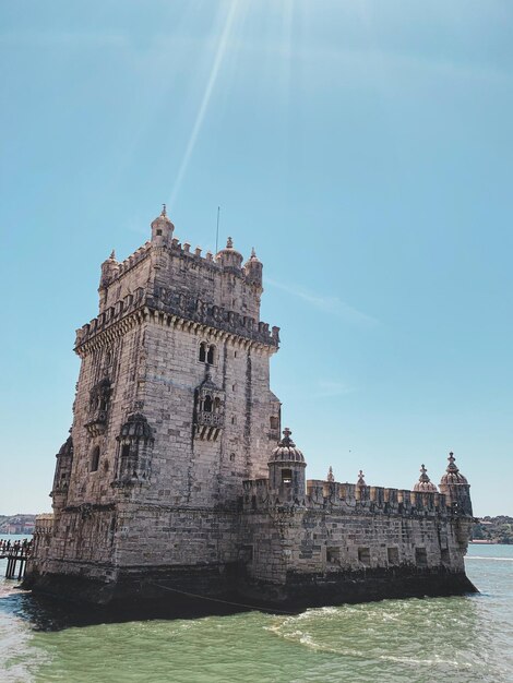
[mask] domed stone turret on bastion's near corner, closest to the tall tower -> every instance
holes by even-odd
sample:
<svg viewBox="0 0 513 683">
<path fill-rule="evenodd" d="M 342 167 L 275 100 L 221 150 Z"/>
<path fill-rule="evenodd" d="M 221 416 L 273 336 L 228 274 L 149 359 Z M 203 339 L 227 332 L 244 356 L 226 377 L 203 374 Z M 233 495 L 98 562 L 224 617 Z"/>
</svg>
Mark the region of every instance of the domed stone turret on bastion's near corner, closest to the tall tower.
<svg viewBox="0 0 513 683">
<path fill-rule="evenodd" d="M 284 438 L 269 460 L 269 488 L 279 503 L 305 504 L 305 457 L 290 439 L 293 432 L 285 428 Z"/>
</svg>

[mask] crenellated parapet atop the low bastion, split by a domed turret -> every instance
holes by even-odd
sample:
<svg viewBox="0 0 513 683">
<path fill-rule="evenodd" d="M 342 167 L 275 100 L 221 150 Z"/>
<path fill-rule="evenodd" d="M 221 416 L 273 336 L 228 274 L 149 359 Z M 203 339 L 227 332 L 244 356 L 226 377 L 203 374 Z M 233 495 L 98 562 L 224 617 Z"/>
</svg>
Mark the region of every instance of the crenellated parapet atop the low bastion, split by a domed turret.
<svg viewBox="0 0 513 683">
<path fill-rule="evenodd" d="M 271 495 L 269 479 L 243 482 L 243 504 L 246 510 L 258 510 L 281 505 L 279 494 Z M 322 479 L 307 481 L 305 505 L 310 510 L 333 510 L 345 512 L 369 512 L 399 516 L 434 516 L 451 513 L 446 498 L 431 491 L 408 491 L 384 487 L 358 486 Z"/>
</svg>

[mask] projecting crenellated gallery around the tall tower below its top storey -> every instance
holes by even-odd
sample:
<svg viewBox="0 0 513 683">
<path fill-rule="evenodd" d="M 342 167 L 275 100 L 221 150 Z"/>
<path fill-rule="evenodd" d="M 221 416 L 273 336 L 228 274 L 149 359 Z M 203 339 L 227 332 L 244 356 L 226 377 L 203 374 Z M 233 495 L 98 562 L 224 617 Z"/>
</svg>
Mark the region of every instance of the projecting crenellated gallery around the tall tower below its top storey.
<svg viewBox="0 0 513 683">
<path fill-rule="evenodd" d="M 279 327 L 272 327 L 262 321 L 258 322 L 249 315 L 241 315 L 236 311 L 215 304 L 208 304 L 198 297 L 177 292 L 165 287 L 157 292 L 148 293 L 139 287 L 133 295 L 109 307 L 90 323 L 76 331 L 75 350 L 92 340 L 102 332 L 111 328 L 121 320 L 128 319 L 135 312 L 148 315 L 152 312 L 167 316 L 169 324 L 178 319 L 191 323 L 206 325 L 242 337 L 250 342 L 277 349 L 279 346 Z"/>
</svg>

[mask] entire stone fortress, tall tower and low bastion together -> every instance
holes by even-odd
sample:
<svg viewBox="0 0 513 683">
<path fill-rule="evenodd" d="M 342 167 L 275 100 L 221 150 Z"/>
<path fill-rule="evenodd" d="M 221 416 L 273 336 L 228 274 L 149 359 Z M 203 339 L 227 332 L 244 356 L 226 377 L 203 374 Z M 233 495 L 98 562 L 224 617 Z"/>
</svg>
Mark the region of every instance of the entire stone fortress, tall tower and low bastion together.
<svg viewBox="0 0 513 683">
<path fill-rule="evenodd" d="M 243 263 L 228 239 L 203 256 L 165 209 L 148 242 L 103 263 L 27 585 L 98 602 L 191 592 L 294 606 L 475 590 L 469 486 L 452 454 L 440 491 L 423 466 L 413 491 L 361 471 L 338 482 L 331 468 L 306 481 L 290 430 L 281 439 L 279 329 L 260 320 L 262 291 L 254 251 Z"/>
</svg>

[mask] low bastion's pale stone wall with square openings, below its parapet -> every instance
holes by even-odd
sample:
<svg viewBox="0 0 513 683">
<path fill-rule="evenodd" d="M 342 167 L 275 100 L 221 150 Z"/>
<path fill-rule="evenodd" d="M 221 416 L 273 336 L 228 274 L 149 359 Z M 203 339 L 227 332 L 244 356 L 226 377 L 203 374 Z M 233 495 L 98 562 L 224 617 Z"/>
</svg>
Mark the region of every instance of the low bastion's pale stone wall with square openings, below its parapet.
<svg viewBox="0 0 513 683">
<path fill-rule="evenodd" d="M 464 572 L 451 519 L 296 510 L 248 513 L 241 537 L 252 546 L 251 578 L 285 584 L 288 572 L 318 575 L 377 567 Z"/>
</svg>

